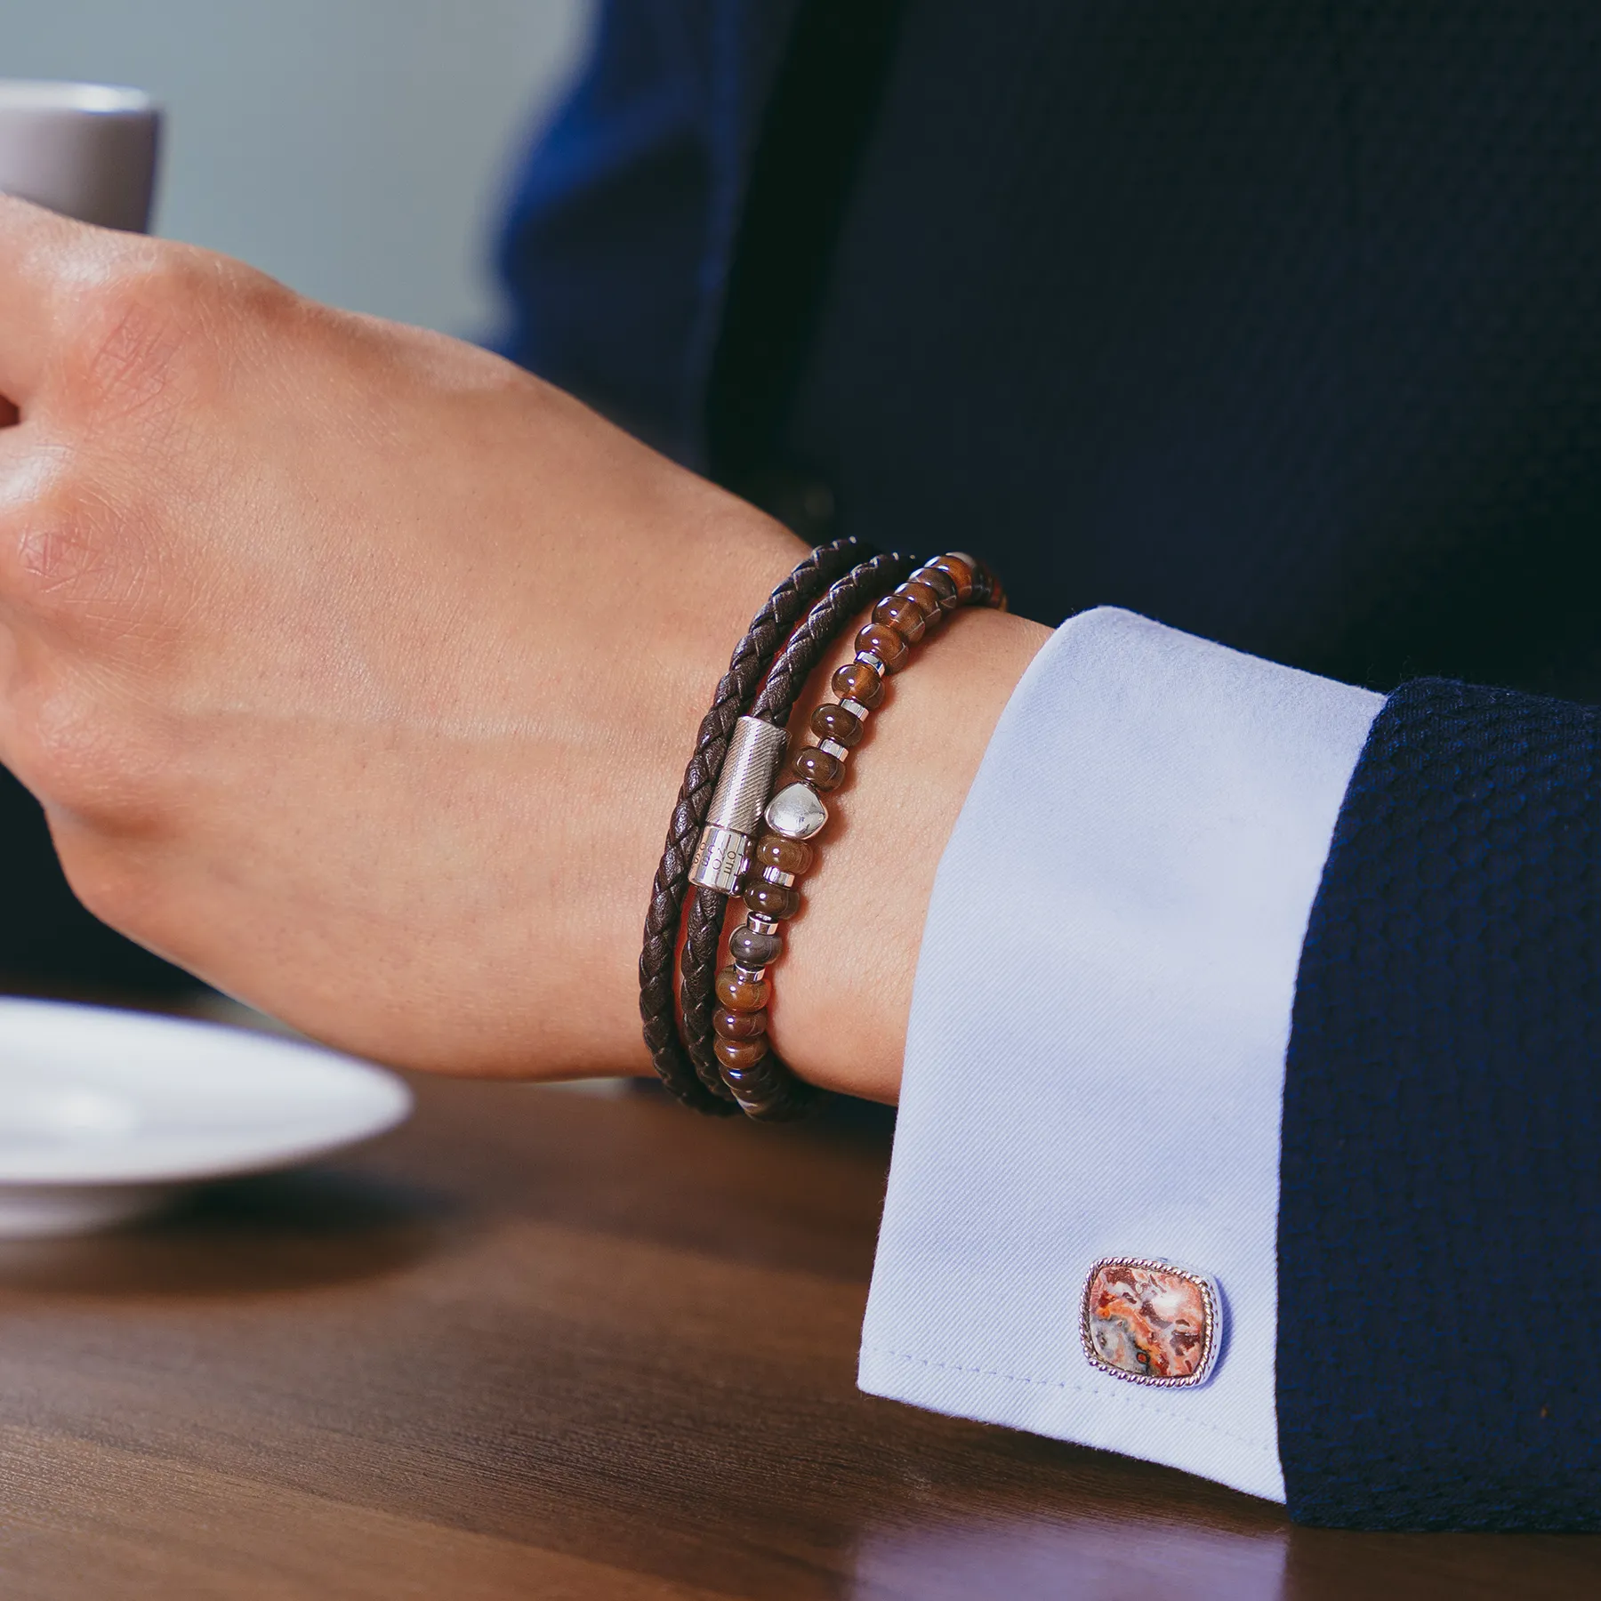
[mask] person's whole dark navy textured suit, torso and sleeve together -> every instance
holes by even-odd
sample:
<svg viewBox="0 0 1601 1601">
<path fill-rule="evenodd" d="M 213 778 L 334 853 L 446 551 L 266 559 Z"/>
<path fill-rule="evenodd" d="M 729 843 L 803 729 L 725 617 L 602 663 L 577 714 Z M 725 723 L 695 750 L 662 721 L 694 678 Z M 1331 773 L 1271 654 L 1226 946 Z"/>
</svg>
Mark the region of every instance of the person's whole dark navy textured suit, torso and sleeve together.
<svg viewBox="0 0 1601 1601">
<path fill-rule="evenodd" d="M 799 134 L 764 123 L 791 14 L 608 6 L 588 82 L 632 51 L 621 99 L 680 110 L 605 183 L 664 176 L 632 223 L 546 183 L 568 120 L 508 255 L 524 359 L 693 464 L 728 285 L 781 215 L 743 186 L 829 115 L 823 75 Z M 768 466 L 828 485 L 831 532 L 977 548 L 1047 623 L 1116 604 L 1386 692 L 1593 696 L 1598 78 L 1593 0 L 906 0 L 823 280 L 770 283 L 807 338 L 784 402 L 751 402 Z M 607 336 L 652 304 L 648 338 Z M 1303 1518 L 1591 1516 L 1583 1330 L 1495 1298 L 1542 1238 L 1596 1263 L 1588 716 L 1407 690 L 1353 789 L 1287 1076 Z M 1338 957 L 1358 925 L 1393 959 Z M 1460 1306 L 1531 1322 L 1467 1366 Z"/>
</svg>

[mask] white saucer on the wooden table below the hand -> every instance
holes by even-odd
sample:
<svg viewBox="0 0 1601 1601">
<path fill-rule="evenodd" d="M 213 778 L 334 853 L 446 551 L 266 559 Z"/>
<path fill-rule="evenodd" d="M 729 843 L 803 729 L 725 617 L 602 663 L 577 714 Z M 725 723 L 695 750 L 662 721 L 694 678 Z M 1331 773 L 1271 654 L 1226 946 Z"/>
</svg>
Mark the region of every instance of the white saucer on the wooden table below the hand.
<svg viewBox="0 0 1601 1601">
<path fill-rule="evenodd" d="M 309 1161 L 410 1109 L 392 1073 L 299 1041 L 0 999 L 0 1238 L 126 1223 L 186 1185 Z"/>
</svg>

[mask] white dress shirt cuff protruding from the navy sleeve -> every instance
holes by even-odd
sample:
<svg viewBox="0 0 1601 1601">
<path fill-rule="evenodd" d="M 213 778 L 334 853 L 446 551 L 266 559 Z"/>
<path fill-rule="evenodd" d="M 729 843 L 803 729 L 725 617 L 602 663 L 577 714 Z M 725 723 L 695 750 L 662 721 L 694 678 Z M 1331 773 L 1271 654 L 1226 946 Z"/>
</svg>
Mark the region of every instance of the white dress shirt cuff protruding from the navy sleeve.
<svg viewBox="0 0 1601 1601">
<path fill-rule="evenodd" d="M 935 881 L 863 1390 L 1282 1502 L 1284 1049 L 1380 704 L 1109 608 L 1039 653 Z M 1109 1255 L 1217 1279 L 1204 1385 L 1090 1367 L 1079 1306 Z"/>
</svg>

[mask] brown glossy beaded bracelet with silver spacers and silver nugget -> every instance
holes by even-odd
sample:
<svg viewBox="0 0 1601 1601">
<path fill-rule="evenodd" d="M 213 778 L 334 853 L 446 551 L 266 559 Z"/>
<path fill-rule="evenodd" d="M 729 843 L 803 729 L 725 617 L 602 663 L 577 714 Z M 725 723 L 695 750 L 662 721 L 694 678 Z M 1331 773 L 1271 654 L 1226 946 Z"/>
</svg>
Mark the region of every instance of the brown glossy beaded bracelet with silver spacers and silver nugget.
<svg viewBox="0 0 1601 1601">
<path fill-rule="evenodd" d="M 712 1052 L 724 1082 L 751 1117 L 781 1119 L 805 1108 L 802 1093 L 776 1090 L 800 1081 L 767 1041 L 767 969 L 783 954 L 783 925 L 800 909 L 797 881 L 813 861 L 812 841 L 828 823 L 823 794 L 839 788 L 869 712 L 884 700 L 884 679 L 906 666 L 911 648 L 948 613 L 964 605 L 1005 607 L 1005 592 L 981 562 L 961 551 L 935 557 L 873 608 L 857 634 L 853 661 L 829 687 L 836 700 L 812 712 L 815 744 L 791 759 L 792 778 L 764 812 L 767 833 L 756 842 L 741 885 L 746 919 L 728 937 L 730 965 L 716 978 L 719 1010 L 711 1017 Z M 692 1057 L 698 1041 L 688 1036 Z"/>
</svg>

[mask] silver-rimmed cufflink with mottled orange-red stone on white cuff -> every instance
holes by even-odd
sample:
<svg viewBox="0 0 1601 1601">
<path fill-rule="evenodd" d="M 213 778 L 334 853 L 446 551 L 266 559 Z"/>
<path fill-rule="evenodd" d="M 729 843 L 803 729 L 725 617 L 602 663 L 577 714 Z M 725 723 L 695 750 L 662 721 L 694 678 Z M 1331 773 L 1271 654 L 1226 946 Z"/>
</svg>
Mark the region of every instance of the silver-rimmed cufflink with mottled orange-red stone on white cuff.
<svg viewBox="0 0 1601 1601">
<path fill-rule="evenodd" d="M 1084 1282 L 1079 1335 L 1090 1367 L 1134 1385 L 1199 1385 L 1223 1335 L 1204 1273 L 1151 1257 L 1101 1257 Z"/>
</svg>

